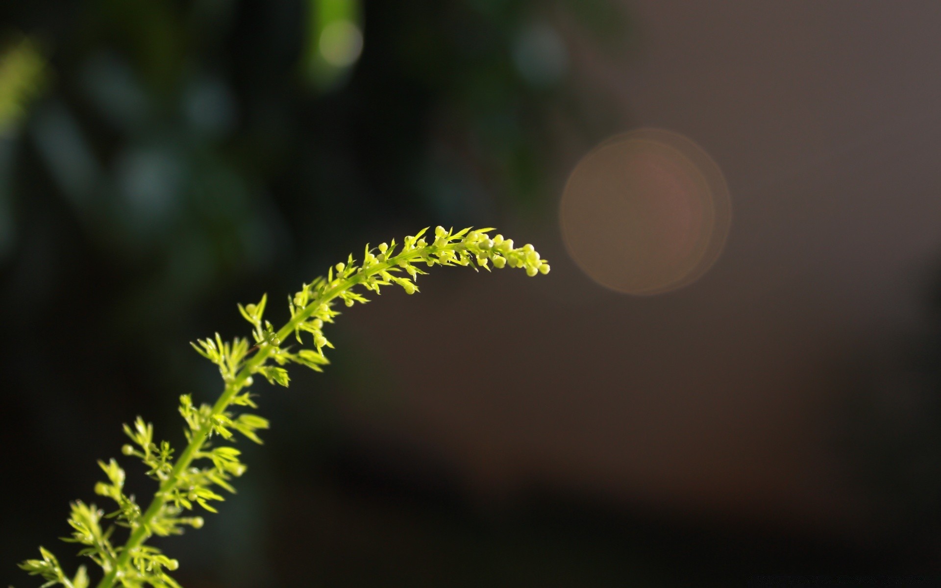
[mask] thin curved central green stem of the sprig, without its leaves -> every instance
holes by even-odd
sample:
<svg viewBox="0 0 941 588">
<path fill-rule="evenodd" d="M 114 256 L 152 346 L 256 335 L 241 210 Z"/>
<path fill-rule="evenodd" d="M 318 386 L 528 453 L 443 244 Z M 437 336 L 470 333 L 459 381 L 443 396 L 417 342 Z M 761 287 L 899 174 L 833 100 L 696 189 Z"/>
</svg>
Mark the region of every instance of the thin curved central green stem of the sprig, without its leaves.
<svg viewBox="0 0 941 588">
<path fill-rule="evenodd" d="M 458 246 L 461 246 L 461 244 L 453 243 L 440 248 L 455 250 Z M 388 271 L 390 268 L 397 266 L 400 262 L 411 261 L 415 258 L 423 258 L 425 254 L 431 252 L 432 250 L 433 247 L 425 246 L 403 251 L 399 255 L 393 256 L 385 262 L 376 262 L 369 268 L 365 268 L 362 272 L 359 272 L 349 278 L 338 279 L 337 284 L 333 286 L 333 288 L 330 288 L 323 295 L 315 298 L 314 300 L 311 300 L 310 304 L 308 304 L 303 310 L 295 313 L 295 316 L 278 330 L 277 335 L 279 340 L 283 341 L 287 339 L 294 332 L 295 326 L 310 318 L 311 315 L 318 308 L 320 308 L 321 305 L 327 304 L 343 291 L 361 283 L 364 278 L 382 271 Z M 167 503 L 167 498 L 170 496 L 170 492 L 179 482 L 180 474 L 183 473 L 183 470 L 189 468 L 189 465 L 192 463 L 194 457 L 197 453 L 199 453 L 199 450 L 202 449 L 206 439 L 209 438 L 209 434 L 213 428 L 212 418 L 222 414 L 226 408 L 229 407 L 232 398 L 234 398 L 235 394 L 237 394 L 239 390 L 245 388 L 248 378 L 250 378 L 251 374 L 254 373 L 255 368 L 261 366 L 264 363 L 264 361 L 271 354 L 273 348 L 274 347 L 269 344 L 262 345 L 255 355 L 247 359 L 236 377 L 226 384 L 225 389 L 222 390 L 222 394 L 219 396 L 218 400 L 215 401 L 215 405 L 213 405 L 213 411 L 210 419 L 199 428 L 199 432 L 194 435 L 192 439 L 190 439 L 186 449 L 184 449 L 183 453 L 180 454 L 180 457 L 177 458 L 176 463 L 173 465 L 173 469 L 170 470 L 170 473 L 167 476 L 167 480 L 160 485 L 160 488 L 153 496 L 153 500 L 148 505 L 147 510 L 144 511 L 144 514 L 140 517 L 140 521 L 138 522 L 134 531 L 131 532 L 131 535 L 128 537 L 124 547 L 120 549 L 120 555 L 115 561 L 114 567 L 112 567 L 111 571 L 105 574 L 104 578 L 98 582 L 97 588 L 113 588 L 115 581 L 118 580 L 117 577 L 119 570 L 127 566 L 127 564 L 131 561 L 131 556 L 134 554 L 135 550 L 150 537 L 149 529 L 153 517 L 157 516 L 157 513 L 159 513 Z"/>
</svg>

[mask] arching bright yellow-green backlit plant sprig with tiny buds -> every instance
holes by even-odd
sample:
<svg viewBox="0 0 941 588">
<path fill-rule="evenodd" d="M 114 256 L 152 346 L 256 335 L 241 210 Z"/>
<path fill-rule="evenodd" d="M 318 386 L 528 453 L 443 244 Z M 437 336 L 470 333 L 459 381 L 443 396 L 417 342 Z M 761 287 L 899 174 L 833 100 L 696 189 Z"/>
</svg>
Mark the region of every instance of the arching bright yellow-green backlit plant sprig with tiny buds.
<svg viewBox="0 0 941 588">
<path fill-rule="evenodd" d="M 176 587 L 169 572 L 177 569 L 177 560 L 147 544 L 154 535 L 180 534 L 186 527 L 199 529 L 201 516 L 190 516 L 197 506 L 215 513 L 214 501 L 222 501 L 221 490 L 233 491 L 232 480 L 241 476 L 246 467 L 240 452 L 231 446 L 236 434 L 261 443 L 258 431 L 268 428 L 268 421 L 248 412 L 257 408 L 248 389 L 254 376 L 287 386 L 288 372 L 284 366 L 300 364 L 317 372 L 328 363 L 324 348 L 333 345 L 324 335 L 324 326 L 339 314 L 337 301 L 347 307 L 368 302 L 363 290 L 376 294 L 383 286 L 401 286 L 407 294 L 418 292 L 415 280 L 425 272 L 420 264 L 465 265 L 473 268 L 518 267 L 529 276 L 549 273 L 549 264 L 539 258 L 532 245 L 514 247 L 512 239 L 502 235 L 490 237 L 492 229 L 445 230 L 438 227 L 429 243 L 425 230 L 406 237 L 401 249 L 395 241 L 378 247 L 366 246 L 361 262 L 350 255 L 337 263 L 326 277 L 304 284 L 289 296 L 291 318 L 276 328 L 263 318 L 267 297 L 258 304 L 239 305 L 242 316 L 253 327 L 251 342 L 236 338 L 223 341 L 218 334 L 193 344 L 204 358 L 215 363 L 224 387 L 215 405 L 194 405 L 188 394 L 180 398 L 180 414 L 185 421 L 186 446 L 174 450 L 167 441 L 157 441 L 152 424 L 137 418 L 133 426 L 124 425 L 131 443 L 121 453 L 140 459 L 147 475 L 157 484 L 150 504 L 139 504 L 134 496 L 124 493 L 124 470 L 114 459 L 100 461 L 106 481 L 95 485 L 95 493 L 117 505 L 105 513 L 95 504 L 72 503 L 69 524 L 72 536 L 64 541 L 80 546 L 79 554 L 87 556 L 101 568 L 98 588 L 124 586 L 138 588 Z M 398 252 L 396 253 L 398 249 Z M 359 291 L 356 291 L 358 289 Z M 286 344 L 295 336 L 295 348 Z M 110 509 L 109 509 L 110 510 Z M 123 534 L 122 534 L 123 532 Z M 117 534 L 116 534 L 117 533 Z M 118 536 L 124 536 L 118 540 Z M 46 580 L 43 587 L 60 584 L 67 588 L 88 588 L 90 579 L 85 566 L 74 575 L 67 575 L 48 549 L 40 548 L 41 559 L 27 560 L 20 566 L 34 576 Z"/>
</svg>

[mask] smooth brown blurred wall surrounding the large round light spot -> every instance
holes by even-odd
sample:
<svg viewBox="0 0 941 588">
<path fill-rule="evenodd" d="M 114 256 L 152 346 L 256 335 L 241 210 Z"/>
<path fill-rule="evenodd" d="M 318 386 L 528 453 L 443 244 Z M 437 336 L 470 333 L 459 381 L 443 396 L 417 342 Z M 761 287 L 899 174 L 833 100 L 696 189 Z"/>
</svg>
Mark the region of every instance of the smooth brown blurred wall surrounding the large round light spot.
<svg viewBox="0 0 941 588">
<path fill-rule="evenodd" d="M 422 305 L 351 313 L 404 391 L 381 428 L 433 439 L 485 494 L 537 482 L 855 531 L 878 505 L 835 453 L 847 372 L 929 325 L 941 10 L 631 8 L 639 55 L 627 66 L 582 56 L 586 83 L 613 88 L 636 126 L 689 135 L 724 168 L 735 208 L 721 261 L 684 291 L 623 296 L 572 267 L 555 227 L 520 221 L 552 260 L 544 282 L 464 277 L 429 283 Z M 431 354 L 421 367 L 416 349 Z"/>
</svg>

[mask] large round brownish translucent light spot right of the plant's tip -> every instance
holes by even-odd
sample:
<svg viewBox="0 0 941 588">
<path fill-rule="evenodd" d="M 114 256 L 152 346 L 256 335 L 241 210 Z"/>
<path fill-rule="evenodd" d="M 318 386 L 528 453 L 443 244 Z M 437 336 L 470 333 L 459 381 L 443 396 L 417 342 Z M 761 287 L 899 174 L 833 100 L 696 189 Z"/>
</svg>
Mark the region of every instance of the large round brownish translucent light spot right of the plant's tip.
<svg viewBox="0 0 941 588">
<path fill-rule="evenodd" d="M 693 283 L 718 259 L 731 204 L 706 151 L 644 129 L 582 158 L 559 216 L 568 252 L 589 277 L 626 294 L 661 294 Z"/>
</svg>

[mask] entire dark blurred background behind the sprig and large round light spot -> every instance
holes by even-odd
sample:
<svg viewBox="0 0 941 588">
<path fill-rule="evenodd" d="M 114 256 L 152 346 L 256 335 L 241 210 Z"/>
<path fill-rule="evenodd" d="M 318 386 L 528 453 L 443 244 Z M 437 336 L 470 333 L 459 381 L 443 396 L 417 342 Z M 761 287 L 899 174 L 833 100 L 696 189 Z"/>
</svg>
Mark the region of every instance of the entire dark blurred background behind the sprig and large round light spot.
<svg viewBox="0 0 941 588">
<path fill-rule="evenodd" d="M 437 224 L 552 272 L 344 313 L 327 373 L 258 387 L 238 494 L 161 542 L 183 585 L 941 573 L 939 25 L 927 0 L 0 4 L 0 584 L 40 544 L 78 563 L 56 537 L 121 422 L 180 442 L 179 395 L 215 398 L 187 342 Z M 709 153 L 733 211 L 655 296 L 588 278 L 558 218 L 582 155 L 641 127 Z"/>
</svg>

